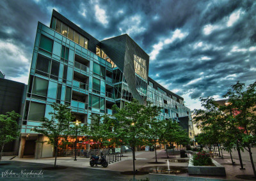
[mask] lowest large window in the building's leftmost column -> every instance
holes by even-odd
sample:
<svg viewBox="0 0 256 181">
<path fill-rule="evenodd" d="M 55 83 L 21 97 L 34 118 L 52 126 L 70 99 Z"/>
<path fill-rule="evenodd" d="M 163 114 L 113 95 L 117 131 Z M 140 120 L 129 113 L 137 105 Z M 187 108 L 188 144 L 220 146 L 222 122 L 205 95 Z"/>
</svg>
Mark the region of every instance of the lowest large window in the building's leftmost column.
<svg viewBox="0 0 256 181">
<path fill-rule="evenodd" d="M 29 108 L 28 120 L 40 121 L 44 117 L 45 105 L 31 102 Z"/>
</svg>

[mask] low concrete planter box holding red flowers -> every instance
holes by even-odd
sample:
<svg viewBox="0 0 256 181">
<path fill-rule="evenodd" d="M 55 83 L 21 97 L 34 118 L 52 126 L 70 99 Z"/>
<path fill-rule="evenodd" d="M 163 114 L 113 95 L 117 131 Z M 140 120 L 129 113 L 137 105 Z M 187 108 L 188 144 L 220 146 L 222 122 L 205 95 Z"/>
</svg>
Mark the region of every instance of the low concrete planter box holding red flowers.
<svg viewBox="0 0 256 181">
<path fill-rule="evenodd" d="M 188 164 L 188 174 L 189 175 L 219 175 L 219 176 L 226 175 L 224 166 L 214 161 L 214 159 L 212 159 L 212 163 L 215 166 L 194 166 L 192 158 L 190 158 L 189 164 Z"/>
</svg>

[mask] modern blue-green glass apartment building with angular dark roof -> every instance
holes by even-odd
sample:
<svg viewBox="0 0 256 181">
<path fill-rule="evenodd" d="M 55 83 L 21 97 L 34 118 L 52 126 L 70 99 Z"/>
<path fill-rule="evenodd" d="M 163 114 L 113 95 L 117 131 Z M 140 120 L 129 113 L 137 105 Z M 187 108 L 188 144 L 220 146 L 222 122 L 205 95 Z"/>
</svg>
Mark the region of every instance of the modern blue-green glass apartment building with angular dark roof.
<svg viewBox="0 0 256 181">
<path fill-rule="evenodd" d="M 51 103 L 69 105 L 76 119 L 91 124 L 90 117 L 112 114 L 132 98 L 163 107 L 159 119 L 188 120 L 184 99 L 148 77 L 149 56 L 127 34 L 99 41 L 53 10 L 51 25 L 38 22 L 28 92 L 22 119 L 19 157 L 52 156 L 52 147 L 31 129 L 49 117 Z"/>
</svg>

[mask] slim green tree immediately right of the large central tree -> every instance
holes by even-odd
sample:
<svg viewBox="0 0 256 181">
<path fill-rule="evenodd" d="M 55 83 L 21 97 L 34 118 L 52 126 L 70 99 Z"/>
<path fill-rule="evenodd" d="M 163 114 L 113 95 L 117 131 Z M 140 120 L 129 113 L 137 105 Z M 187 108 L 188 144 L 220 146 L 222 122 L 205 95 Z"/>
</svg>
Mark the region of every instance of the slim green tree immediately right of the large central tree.
<svg viewBox="0 0 256 181">
<path fill-rule="evenodd" d="M 153 145 L 155 147 L 156 154 L 156 143 L 163 143 L 164 140 L 164 130 L 165 122 L 163 120 L 157 120 L 158 115 L 161 113 L 161 108 L 157 106 L 152 106 L 150 102 L 147 104 L 145 113 L 147 114 L 147 142 L 148 145 Z M 157 163 L 157 154 L 156 154 Z"/>
</svg>

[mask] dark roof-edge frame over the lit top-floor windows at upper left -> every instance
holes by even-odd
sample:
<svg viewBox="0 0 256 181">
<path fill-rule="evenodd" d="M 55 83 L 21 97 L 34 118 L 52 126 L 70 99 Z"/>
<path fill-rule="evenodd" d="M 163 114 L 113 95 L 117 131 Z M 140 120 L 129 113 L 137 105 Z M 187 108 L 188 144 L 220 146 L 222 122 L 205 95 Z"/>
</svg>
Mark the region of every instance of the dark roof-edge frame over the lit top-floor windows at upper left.
<svg viewBox="0 0 256 181">
<path fill-rule="evenodd" d="M 67 24 L 69 27 L 74 29 L 79 34 L 82 34 L 85 38 L 88 39 L 88 50 L 96 54 L 96 45 L 99 45 L 99 40 L 94 38 L 92 35 L 81 29 L 79 26 L 68 20 L 66 17 L 63 17 L 58 11 L 52 10 L 52 17 L 58 18 L 61 22 Z M 51 24 L 52 24 L 52 18 L 51 18 Z M 50 24 L 50 27 L 51 27 Z"/>
</svg>

